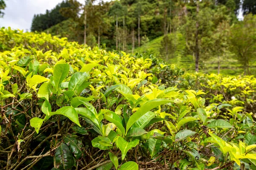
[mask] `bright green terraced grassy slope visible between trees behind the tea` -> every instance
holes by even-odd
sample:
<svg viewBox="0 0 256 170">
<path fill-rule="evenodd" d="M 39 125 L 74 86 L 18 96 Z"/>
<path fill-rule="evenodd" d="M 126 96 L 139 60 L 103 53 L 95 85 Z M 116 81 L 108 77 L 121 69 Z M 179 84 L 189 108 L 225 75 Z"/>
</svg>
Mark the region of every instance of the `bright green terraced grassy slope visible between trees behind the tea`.
<svg viewBox="0 0 256 170">
<path fill-rule="evenodd" d="M 140 46 L 140 48 L 136 48 L 135 52 L 143 53 L 150 51 L 152 54 L 159 56 L 162 40 L 163 36 L 157 37 L 156 39 L 143 44 Z M 194 71 L 195 69 L 195 60 L 191 55 L 182 56 L 180 58 L 172 58 L 167 62 L 177 64 L 181 68 L 185 68 L 187 71 Z M 256 62 L 251 63 L 250 65 L 251 74 L 256 75 Z M 217 60 L 205 59 L 200 63 L 200 68 L 204 73 L 218 73 Z M 242 74 L 243 71 L 244 69 L 242 68 L 242 65 L 236 59 L 223 59 L 223 61 L 221 61 L 221 74 L 238 75 Z"/>
</svg>

